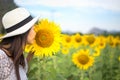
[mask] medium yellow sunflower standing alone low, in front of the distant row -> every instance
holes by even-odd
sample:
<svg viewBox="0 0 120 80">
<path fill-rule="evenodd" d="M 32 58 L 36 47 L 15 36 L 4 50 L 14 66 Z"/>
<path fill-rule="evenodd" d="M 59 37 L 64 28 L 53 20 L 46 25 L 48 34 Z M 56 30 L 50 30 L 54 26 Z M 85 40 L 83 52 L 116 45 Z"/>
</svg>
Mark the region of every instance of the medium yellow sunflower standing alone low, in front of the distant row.
<svg viewBox="0 0 120 80">
<path fill-rule="evenodd" d="M 90 56 L 89 50 L 79 50 L 72 55 L 72 61 L 77 67 L 87 70 L 94 63 L 94 58 Z"/>
</svg>

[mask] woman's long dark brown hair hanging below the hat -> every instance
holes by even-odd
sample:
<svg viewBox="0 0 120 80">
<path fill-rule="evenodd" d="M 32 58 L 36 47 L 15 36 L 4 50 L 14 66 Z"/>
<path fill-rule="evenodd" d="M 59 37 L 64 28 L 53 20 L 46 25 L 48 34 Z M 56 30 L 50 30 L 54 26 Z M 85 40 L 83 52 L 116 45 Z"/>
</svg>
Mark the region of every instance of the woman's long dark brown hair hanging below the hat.
<svg viewBox="0 0 120 80">
<path fill-rule="evenodd" d="M 19 65 L 22 65 L 23 67 L 25 67 L 23 52 L 24 52 L 25 45 L 27 43 L 27 36 L 29 31 L 17 36 L 4 38 L 0 42 L 0 48 L 4 48 L 3 47 L 4 45 L 10 45 L 9 48 L 4 48 L 4 49 L 11 54 L 10 57 L 13 59 L 17 80 L 21 80 L 20 74 L 19 74 Z"/>
</svg>

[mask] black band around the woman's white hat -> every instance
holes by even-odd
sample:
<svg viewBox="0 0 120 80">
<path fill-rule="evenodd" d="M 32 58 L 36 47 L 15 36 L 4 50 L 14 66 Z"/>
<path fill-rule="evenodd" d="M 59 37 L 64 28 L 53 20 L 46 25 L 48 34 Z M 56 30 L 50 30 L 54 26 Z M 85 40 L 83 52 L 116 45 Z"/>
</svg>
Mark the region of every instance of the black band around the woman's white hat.
<svg viewBox="0 0 120 80">
<path fill-rule="evenodd" d="M 12 32 L 12 31 L 22 27 L 23 25 L 25 25 L 26 23 L 28 23 L 32 19 L 33 19 L 32 16 L 28 16 L 25 20 L 21 21 L 20 23 L 14 25 L 14 26 L 11 26 L 10 28 L 7 28 L 6 32 L 9 33 L 9 32 Z"/>
</svg>

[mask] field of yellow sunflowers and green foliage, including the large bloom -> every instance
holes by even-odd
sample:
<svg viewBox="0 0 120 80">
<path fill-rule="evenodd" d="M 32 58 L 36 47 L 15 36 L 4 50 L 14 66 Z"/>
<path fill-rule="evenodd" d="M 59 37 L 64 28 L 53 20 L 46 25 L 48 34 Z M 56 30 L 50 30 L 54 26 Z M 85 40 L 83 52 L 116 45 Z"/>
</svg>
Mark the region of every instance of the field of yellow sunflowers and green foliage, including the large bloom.
<svg viewBox="0 0 120 80">
<path fill-rule="evenodd" d="M 120 80 L 120 35 L 65 34 L 46 19 L 35 26 L 29 80 Z"/>
</svg>

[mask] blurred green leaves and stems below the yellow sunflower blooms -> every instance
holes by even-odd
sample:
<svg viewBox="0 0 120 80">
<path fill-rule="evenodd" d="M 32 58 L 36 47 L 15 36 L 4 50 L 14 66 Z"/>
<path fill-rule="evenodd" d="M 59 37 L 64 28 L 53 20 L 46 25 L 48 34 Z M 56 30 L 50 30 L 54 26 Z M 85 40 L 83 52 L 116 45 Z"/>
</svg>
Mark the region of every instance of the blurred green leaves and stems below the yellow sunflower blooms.
<svg viewBox="0 0 120 80">
<path fill-rule="evenodd" d="M 68 49 L 67 54 L 60 50 L 51 57 L 34 57 L 29 64 L 29 80 L 120 80 L 120 44 L 112 47 L 106 41 L 106 46 L 100 49 L 100 55 L 95 56 L 93 66 L 87 70 L 78 68 L 72 62 L 72 54 L 78 50 L 89 49 L 92 55 L 94 47 L 82 45 Z"/>
</svg>

